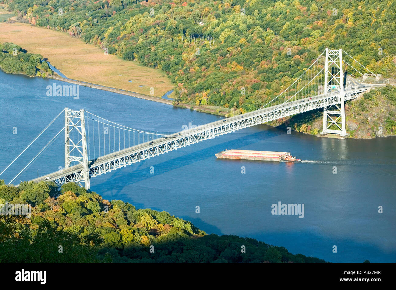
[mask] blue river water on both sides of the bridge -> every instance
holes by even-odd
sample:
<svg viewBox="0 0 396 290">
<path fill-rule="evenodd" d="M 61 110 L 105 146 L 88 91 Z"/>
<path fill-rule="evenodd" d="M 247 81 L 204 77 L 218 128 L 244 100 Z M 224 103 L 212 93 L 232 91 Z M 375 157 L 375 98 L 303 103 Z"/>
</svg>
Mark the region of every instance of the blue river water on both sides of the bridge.
<svg viewBox="0 0 396 290">
<path fill-rule="evenodd" d="M 80 86 L 80 98 L 48 97 L 53 80 L 0 72 L 0 169 L 64 108 L 84 108 L 128 127 L 159 133 L 218 116 Z M 65 85 L 56 81 L 59 85 Z M 9 182 L 62 128 L 49 127 L 0 178 Z M 17 134 L 13 134 L 13 128 Z M 20 177 L 63 166 L 63 134 Z M 207 233 L 253 237 L 330 262 L 396 262 L 396 138 L 328 139 L 266 125 L 187 146 L 91 179 L 105 199 L 165 210 Z M 298 164 L 219 160 L 228 149 L 291 151 Z M 150 174 L 154 166 L 154 174 Z M 242 166 L 246 173 L 241 173 Z M 333 174 L 333 166 L 337 174 Z M 272 215 L 273 203 L 304 203 L 305 217 Z M 195 207 L 200 206 L 200 213 Z M 383 206 L 383 213 L 378 207 Z M 333 253 L 333 245 L 337 253 Z"/>
</svg>

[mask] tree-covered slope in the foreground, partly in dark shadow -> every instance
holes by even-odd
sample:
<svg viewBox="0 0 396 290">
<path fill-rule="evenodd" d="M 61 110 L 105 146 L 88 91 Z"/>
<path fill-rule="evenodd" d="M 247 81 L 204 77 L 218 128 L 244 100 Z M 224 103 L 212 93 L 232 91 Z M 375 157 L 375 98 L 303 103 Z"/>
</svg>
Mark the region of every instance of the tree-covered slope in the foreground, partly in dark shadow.
<svg viewBox="0 0 396 290">
<path fill-rule="evenodd" d="M 6 214 L 10 204 L 31 204 L 31 216 Z M 59 192 L 51 182 L 14 187 L 0 180 L 0 262 L 325 261 L 255 239 L 207 235 L 165 211 L 104 200 L 74 183 Z"/>
</svg>

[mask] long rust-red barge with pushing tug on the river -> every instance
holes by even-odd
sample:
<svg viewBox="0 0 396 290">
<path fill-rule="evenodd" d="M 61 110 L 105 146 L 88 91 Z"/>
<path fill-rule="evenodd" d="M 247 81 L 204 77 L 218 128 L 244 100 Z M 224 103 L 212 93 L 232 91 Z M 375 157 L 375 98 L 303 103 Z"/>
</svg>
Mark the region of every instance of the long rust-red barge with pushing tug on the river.
<svg viewBox="0 0 396 290">
<path fill-rule="evenodd" d="M 254 151 L 254 150 L 225 150 L 215 154 L 217 158 L 223 159 L 245 159 L 245 160 L 264 160 L 264 161 L 285 161 L 301 162 L 291 156 L 290 152 L 277 151 Z"/>
</svg>

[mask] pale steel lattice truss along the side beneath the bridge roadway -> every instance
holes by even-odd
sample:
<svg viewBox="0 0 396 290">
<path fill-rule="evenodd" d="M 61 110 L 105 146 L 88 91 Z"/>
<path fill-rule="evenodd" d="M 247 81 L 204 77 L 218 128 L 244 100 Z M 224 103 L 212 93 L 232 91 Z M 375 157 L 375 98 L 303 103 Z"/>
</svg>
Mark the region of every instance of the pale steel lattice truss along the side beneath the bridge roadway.
<svg viewBox="0 0 396 290">
<path fill-rule="evenodd" d="M 344 100 L 352 100 L 367 89 L 368 88 L 359 88 L 347 91 L 344 96 Z M 290 102 L 283 104 L 282 106 L 274 106 L 276 107 L 274 109 L 271 109 L 272 107 L 264 108 L 261 110 L 240 115 L 240 119 L 234 120 L 232 122 L 226 122 L 225 124 L 221 124 L 216 127 L 206 128 L 206 126 L 199 126 L 194 130 L 188 130 L 186 136 L 173 137 L 171 139 L 169 138 L 169 141 L 166 141 L 165 139 L 162 143 L 156 143 L 155 145 L 150 145 L 147 142 L 143 148 L 140 148 L 142 144 L 139 144 L 134 147 L 130 147 L 130 150 L 126 149 L 126 151 L 129 151 L 128 153 L 125 153 L 123 155 L 119 155 L 122 151 L 118 151 L 113 154 L 109 154 L 109 158 L 102 162 L 93 162 L 92 164 L 90 164 L 88 169 L 89 177 L 96 177 L 112 170 L 116 170 L 121 167 L 134 164 L 136 162 L 140 162 L 142 160 L 149 159 L 151 157 L 164 154 L 188 145 L 192 145 L 200 141 L 221 136 L 223 134 L 228 134 L 236 130 L 273 121 L 279 118 L 288 117 L 305 111 L 339 104 L 340 101 L 341 96 L 339 94 L 335 94 L 332 96 L 324 96 L 320 99 L 305 100 L 300 104 Z M 139 149 L 134 149 L 137 147 L 139 147 Z M 51 180 L 55 181 L 57 185 L 62 185 L 67 182 L 79 183 L 81 181 L 84 181 L 83 166 L 74 166 L 74 168 L 75 170 L 72 173 L 60 173 L 59 177 Z"/>
</svg>

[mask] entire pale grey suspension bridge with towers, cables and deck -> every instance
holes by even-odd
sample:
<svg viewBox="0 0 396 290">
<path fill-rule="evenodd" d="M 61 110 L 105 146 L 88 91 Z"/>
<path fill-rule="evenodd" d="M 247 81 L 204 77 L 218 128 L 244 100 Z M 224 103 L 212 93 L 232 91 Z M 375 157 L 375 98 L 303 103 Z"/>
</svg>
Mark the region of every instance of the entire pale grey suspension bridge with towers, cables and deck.
<svg viewBox="0 0 396 290">
<path fill-rule="evenodd" d="M 344 58 L 343 53 L 346 56 Z M 364 68 L 364 73 L 353 65 L 360 69 Z M 75 182 L 81 186 L 84 184 L 85 188 L 89 189 L 91 177 L 236 130 L 318 108 L 324 109 L 322 133 L 346 136 L 345 101 L 358 97 L 372 87 L 385 85 L 360 83 L 347 75 L 344 70 L 346 67 L 360 73 L 363 79 L 368 73 L 375 75 L 343 49 L 326 48 L 286 90 L 261 108 L 174 134 L 136 130 L 111 122 L 84 109 L 76 111 L 65 108 L 2 170 L 0 175 L 63 113 L 65 126 L 8 184 L 13 183 L 63 131 L 65 167 L 32 181 L 53 181 L 59 186 Z M 378 75 L 375 76 L 378 79 Z"/>
</svg>

